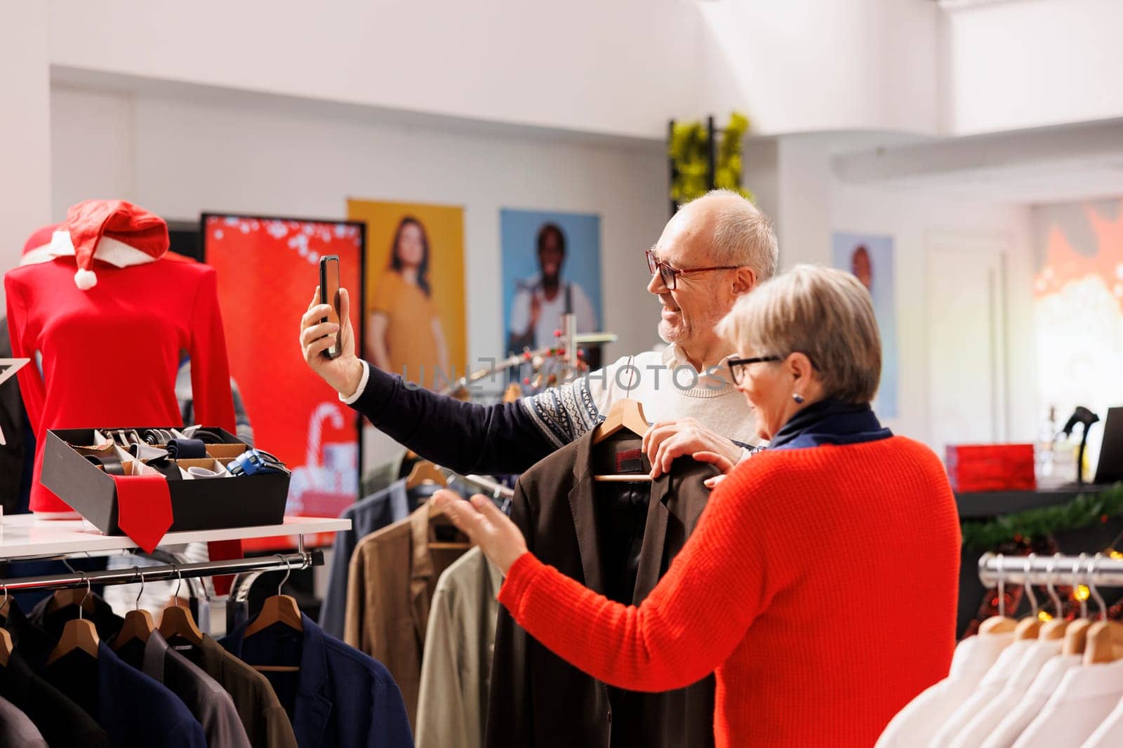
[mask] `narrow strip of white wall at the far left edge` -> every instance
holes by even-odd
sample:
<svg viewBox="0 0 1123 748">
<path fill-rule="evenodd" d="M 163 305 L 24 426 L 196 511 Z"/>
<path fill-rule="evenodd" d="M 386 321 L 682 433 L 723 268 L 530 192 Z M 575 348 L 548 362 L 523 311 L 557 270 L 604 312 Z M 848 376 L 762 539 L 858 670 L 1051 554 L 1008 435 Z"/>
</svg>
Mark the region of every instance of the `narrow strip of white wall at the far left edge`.
<svg viewBox="0 0 1123 748">
<path fill-rule="evenodd" d="M 16 264 L 28 235 L 51 217 L 46 8 L 4 8 L 4 24 L 22 33 L 4 34 L 0 44 L 0 270 Z M 0 284 L 0 313 L 3 304 Z"/>
</svg>

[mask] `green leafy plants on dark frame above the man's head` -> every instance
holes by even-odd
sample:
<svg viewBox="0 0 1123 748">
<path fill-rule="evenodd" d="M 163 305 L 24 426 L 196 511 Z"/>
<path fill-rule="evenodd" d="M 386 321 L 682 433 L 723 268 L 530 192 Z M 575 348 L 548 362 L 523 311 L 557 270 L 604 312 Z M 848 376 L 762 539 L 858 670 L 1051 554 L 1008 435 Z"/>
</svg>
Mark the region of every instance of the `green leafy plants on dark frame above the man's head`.
<svg viewBox="0 0 1123 748">
<path fill-rule="evenodd" d="M 749 129 L 749 119 L 733 112 L 714 154 L 714 186 L 732 190 L 748 199 L 752 193 L 741 189 L 741 142 Z M 670 129 L 667 155 L 675 165 L 670 199 L 688 202 L 710 190 L 710 134 L 702 122 L 675 122 Z"/>
</svg>

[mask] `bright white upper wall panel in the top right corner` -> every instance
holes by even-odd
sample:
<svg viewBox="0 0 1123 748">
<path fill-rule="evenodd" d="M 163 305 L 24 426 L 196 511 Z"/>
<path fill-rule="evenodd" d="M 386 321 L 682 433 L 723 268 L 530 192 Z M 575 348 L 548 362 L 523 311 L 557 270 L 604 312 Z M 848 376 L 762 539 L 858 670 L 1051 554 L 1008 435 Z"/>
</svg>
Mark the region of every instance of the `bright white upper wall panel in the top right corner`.
<svg viewBox="0 0 1123 748">
<path fill-rule="evenodd" d="M 1033 0 L 946 11 L 944 127 L 957 134 L 1123 117 L 1123 3 Z"/>
</svg>

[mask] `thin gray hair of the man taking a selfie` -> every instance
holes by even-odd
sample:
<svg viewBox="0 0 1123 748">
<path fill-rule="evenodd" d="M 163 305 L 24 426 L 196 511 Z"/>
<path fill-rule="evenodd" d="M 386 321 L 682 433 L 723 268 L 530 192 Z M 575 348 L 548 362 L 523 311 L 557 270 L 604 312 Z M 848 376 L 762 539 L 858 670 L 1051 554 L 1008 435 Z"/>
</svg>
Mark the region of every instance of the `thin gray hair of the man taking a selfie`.
<svg viewBox="0 0 1123 748">
<path fill-rule="evenodd" d="M 703 198 L 733 198 L 714 208 L 713 259 L 715 265 L 751 267 L 757 282 L 776 274 L 779 247 L 772 221 L 751 200 L 732 190 L 711 190 Z"/>
</svg>

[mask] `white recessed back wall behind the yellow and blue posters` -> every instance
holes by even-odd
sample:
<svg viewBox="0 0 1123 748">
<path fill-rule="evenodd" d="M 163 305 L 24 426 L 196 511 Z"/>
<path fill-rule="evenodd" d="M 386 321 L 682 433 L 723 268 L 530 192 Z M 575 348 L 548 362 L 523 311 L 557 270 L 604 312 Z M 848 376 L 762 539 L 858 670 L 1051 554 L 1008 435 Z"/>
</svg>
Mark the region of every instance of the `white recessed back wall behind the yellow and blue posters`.
<svg viewBox="0 0 1123 748">
<path fill-rule="evenodd" d="M 56 216 L 94 195 L 130 198 L 168 219 L 203 210 L 344 217 L 347 198 L 464 206 L 475 359 L 502 353 L 499 209 L 595 212 L 605 325 L 621 337 L 610 354 L 657 340 L 641 256 L 667 219 L 657 146 L 491 137 L 64 86 L 52 102 Z"/>
</svg>

